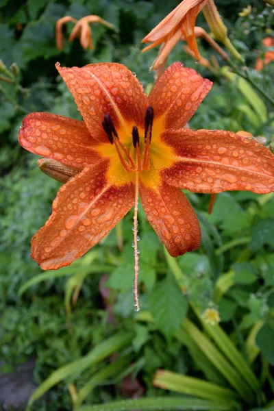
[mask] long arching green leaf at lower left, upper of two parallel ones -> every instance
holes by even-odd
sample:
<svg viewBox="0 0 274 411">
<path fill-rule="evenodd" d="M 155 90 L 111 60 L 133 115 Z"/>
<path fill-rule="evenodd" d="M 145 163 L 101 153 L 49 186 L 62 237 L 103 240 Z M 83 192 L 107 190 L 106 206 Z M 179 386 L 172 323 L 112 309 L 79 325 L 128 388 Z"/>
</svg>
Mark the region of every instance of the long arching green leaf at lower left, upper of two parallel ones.
<svg viewBox="0 0 274 411">
<path fill-rule="evenodd" d="M 32 397 L 29 398 L 29 402 L 27 403 L 27 411 L 30 409 L 34 401 L 42 397 L 43 394 L 47 393 L 47 391 L 51 387 L 55 386 L 55 384 L 58 384 L 58 382 L 66 379 L 66 377 L 69 377 L 70 375 L 74 375 L 76 377 L 88 367 L 93 364 L 97 364 L 97 362 L 107 358 L 112 353 L 119 351 L 121 348 L 128 345 L 131 340 L 131 334 L 116 334 L 115 336 L 108 338 L 108 340 L 103 341 L 103 343 L 97 345 L 86 356 L 61 366 L 58 370 L 53 371 L 53 373 L 51 373 L 51 375 L 49 375 L 49 377 L 45 379 L 40 386 L 38 386 L 32 394 Z"/>
</svg>

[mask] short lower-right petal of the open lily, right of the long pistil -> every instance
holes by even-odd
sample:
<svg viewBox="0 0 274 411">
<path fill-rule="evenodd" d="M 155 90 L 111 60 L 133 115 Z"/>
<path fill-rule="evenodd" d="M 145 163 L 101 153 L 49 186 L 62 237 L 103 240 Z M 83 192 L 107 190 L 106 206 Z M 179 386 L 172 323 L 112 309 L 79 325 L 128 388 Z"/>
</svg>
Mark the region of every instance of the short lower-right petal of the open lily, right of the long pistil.
<svg viewBox="0 0 274 411">
<path fill-rule="evenodd" d="M 199 221 L 182 190 L 164 182 L 158 188 L 140 183 L 140 197 L 149 223 L 171 256 L 199 247 Z"/>
</svg>

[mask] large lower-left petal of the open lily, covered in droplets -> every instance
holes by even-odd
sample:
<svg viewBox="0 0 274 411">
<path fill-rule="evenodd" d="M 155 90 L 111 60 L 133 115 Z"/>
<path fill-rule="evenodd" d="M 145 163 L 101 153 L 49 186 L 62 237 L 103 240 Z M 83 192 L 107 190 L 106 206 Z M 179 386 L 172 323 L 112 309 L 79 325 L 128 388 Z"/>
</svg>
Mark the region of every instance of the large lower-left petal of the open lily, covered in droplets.
<svg viewBox="0 0 274 411">
<path fill-rule="evenodd" d="M 86 167 L 60 188 L 49 220 L 32 238 L 32 258 L 41 269 L 71 264 L 134 206 L 134 185 L 109 182 L 109 164 Z"/>
</svg>

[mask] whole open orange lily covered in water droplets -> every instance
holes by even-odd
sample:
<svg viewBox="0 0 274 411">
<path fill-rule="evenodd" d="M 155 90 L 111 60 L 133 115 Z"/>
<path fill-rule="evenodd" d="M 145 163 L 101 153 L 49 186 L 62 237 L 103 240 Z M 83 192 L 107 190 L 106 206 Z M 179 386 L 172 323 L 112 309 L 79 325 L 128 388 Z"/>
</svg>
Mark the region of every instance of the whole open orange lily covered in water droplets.
<svg viewBox="0 0 274 411">
<path fill-rule="evenodd" d="M 212 87 L 195 70 L 172 64 L 147 97 L 122 64 L 56 68 L 84 121 L 33 113 L 19 133 L 25 149 L 61 162 L 66 174 L 71 167 L 74 175 L 32 239 L 32 258 L 42 269 L 71 264 L 132 207 L 136 245 L 139 193 L 149 223 L 177 257 L 201 241 L 199 221 L 181 188 L 211 194 L 274 190 L 269 149 L 232 132 L 184 129 Z M 137 247 L 134 252 L 137 275 Z"/>
</svg>

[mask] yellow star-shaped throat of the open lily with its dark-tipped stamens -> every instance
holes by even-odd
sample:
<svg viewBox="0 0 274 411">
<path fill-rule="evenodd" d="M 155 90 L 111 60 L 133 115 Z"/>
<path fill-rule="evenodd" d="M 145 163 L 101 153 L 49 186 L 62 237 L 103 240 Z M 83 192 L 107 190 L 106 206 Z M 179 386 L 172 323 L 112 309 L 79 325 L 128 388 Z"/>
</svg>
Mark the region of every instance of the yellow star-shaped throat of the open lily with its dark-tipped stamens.
<svg viewBox="0 0 274 411">
<path fill-rule="evenodd" d="M 138 173 L 146 186 L 158 186 L 160 169 L 173 162 L 173 150 L 160 140 L 164 127 L 162 121 L 156 121 L 153 127 L 153 108 L 149 106 L 145 113 L 145 127 L 132 125 L 132 135 L 116 131 L 111 117 L 105 114 L 102 122 L 105 134 L 111 144 L 105 143 L 97 148 L 103 156 L 110 158 L 108 178 L 116 184 L 125 181 L 135 182 Z M 117 155 L 119 161 L 117 161 Z"/>
</svg>

